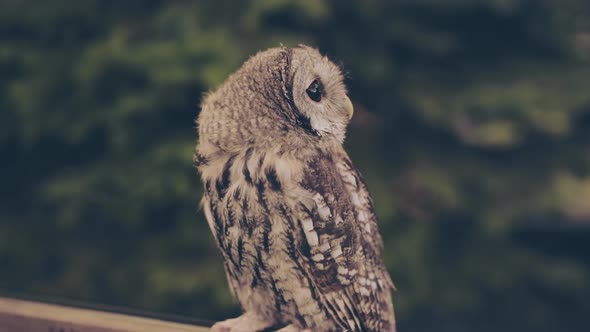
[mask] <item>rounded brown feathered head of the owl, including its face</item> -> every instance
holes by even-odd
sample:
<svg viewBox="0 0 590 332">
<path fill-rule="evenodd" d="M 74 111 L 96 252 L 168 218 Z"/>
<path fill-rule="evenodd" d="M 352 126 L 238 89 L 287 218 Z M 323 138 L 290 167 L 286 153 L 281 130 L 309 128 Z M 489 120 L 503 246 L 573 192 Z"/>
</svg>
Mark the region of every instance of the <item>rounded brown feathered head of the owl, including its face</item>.
<svg viewBox="0 0 590 332">
<path fill-rule="evenodd" d="M 327 57 L 305 45 L 272 48 L 205 97 L 199 135 L 223 150 L 342 143 L 352 113 L 342 72 Z"/>
</svg>

